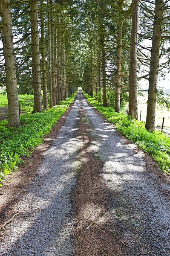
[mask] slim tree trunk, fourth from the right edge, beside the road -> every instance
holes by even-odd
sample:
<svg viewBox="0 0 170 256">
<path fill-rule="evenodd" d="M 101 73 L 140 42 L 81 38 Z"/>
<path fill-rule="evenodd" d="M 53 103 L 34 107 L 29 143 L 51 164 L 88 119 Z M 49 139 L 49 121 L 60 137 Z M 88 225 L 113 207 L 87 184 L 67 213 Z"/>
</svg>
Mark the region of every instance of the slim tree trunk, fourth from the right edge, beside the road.
<svg viewBox="0 0 170 256">
<path fill-rule="evenodd" d="M 107 107 L 107 98 L 106 98 L 106 51 L 105 51 L 105 45 L 104 45 L 103 19 L 100 21 L 100 41 L 101 41 L 101 56 L 102 56 L 103 106 Z"/>
</svg>

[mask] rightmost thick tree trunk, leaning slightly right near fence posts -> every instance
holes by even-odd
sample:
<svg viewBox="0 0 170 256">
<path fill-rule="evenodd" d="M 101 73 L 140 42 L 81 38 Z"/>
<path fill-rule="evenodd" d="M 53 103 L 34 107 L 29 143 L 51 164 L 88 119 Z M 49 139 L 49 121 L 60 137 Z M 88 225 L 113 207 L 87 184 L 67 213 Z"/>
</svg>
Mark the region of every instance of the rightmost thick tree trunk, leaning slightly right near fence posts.
<svg viewBox="0 0 170 256">
<path fill-rule="evenodd" d="M 163 11 L 164 11 L 164 0 L 156 0 L 155 16 L 153 21 L 150 73 L 149 73 L 147 120 L 145 125 L 145 128 L 151 132 L 155 130 L 159 48 L 161 44 L 161 25 L 162 25 Z"/>
</svg>

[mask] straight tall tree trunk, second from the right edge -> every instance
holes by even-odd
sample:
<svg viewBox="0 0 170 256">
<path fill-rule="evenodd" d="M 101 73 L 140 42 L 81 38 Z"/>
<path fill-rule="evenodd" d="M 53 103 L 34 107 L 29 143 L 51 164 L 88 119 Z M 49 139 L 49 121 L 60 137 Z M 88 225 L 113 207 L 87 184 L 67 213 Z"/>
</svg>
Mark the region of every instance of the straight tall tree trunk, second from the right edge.
<svg viewBox="0 0 170 256">
<path fill-rule="evenodd" d="M 138 119 L 137 103 L 137 43 L 139 25 L 139 1 L 133 0 L 132 31 L 130 41 L 130 67 L 129 67 L 129 115 Z"/>
</svg>

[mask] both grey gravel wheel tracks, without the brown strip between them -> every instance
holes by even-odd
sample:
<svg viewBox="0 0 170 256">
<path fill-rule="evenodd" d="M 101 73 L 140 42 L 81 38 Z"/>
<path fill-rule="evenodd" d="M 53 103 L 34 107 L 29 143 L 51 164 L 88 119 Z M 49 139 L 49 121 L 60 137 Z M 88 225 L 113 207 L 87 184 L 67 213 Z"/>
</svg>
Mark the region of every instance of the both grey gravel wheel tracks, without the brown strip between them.
<svg viewBox="0 0 170 256">
<path fill-rule="evenodd" d="M 146 169 L 140 154 L 95 113 L 80 91 L 31 188 L 17 203 L 22 205 L 20 214 L 1 232 L 0 255 L 72 255 L 72 192 L 80 169 L 78 151 L 84 145 L 76 135 L 80 106 L 95 138 L 88 150 L 102 160 L 106 186 L 115 195 L 107 218 L 120 222 L 131 256 L 170 256 L 170 186 Z"/>
</svg>

